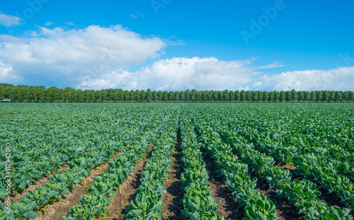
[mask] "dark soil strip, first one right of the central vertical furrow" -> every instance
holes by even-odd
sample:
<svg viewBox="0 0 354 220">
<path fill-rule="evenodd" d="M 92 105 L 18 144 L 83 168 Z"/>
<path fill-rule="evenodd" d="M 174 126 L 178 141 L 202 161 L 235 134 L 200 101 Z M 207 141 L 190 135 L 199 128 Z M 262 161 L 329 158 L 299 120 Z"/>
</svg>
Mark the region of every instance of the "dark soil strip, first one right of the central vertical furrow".
<svg viewBox="0 0 354 220">
<path fill-rule="evenodd" d="M 215 170 L 217 169 L 217 165 L 214 160 L 210 158 L 209 155 L 203 155 L 205 168 L 209 173 L 209 181 L 207 183 L 210 184 L 210 190 L 212 190 L 212 197 L 215 202 L 220 202 L 219 209 L 217 209 L 216 214 L 220 216 L 224 216 L 225 219 L 242 219 L 244 216 L 244 209 L 239 208 L 239 202 L 236 201 L 236 198 L 232 196 L 232 192 L 224 184 L 224 180 L 222 177 L 217 177 L 217 173 Z"/>
</svg>

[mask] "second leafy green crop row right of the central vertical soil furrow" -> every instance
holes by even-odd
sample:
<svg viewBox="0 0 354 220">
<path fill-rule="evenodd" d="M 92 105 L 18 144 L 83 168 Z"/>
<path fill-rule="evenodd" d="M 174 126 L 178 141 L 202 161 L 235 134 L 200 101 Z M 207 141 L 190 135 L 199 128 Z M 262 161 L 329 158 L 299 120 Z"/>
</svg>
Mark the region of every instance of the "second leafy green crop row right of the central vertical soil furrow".
<svg viewBox="0 0 354 220">
<path fill-rule="evenodd" d="M 192 115 L 192 114 L 190 114 Z M 219 134 L 212 130 L 202 118 L 195 118 L 195 128 L 198 131 L 198 141 L 203 143 L 203 148 L 211 155 L 217 164 L 219 176 L 226 179 L 226 184 L 236 197 L 241 207 L 244 207 L 244 219 L 278 219 L 274 203 L 254 189 L 256 178 L 251 180 L 248 166 L 232 153 L 226 143 L 222 143 Z"/>
</svg>

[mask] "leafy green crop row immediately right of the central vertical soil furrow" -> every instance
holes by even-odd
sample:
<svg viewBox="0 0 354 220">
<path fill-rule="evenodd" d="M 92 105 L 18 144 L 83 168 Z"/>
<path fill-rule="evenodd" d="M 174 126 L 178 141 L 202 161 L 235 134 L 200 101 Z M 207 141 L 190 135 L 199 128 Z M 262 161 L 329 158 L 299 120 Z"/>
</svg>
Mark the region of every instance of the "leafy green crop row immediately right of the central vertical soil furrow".
<svg viewBox="0 0 354 220">
<path fill-rule="evenodd" d="M 185 191 L 181 202 L 182 213 L 190 219 L 224 219 L 215 214 L 221 202 L 214 202 L 210 185 L 207 183 L 209 175 L 200 152 L 201 144 L 197 141 L 195 128 L 186 114 L 181 117 L 181 148 L 183 149 L 184 170 L 181 174 L 182 189 Z"/>
</svg>

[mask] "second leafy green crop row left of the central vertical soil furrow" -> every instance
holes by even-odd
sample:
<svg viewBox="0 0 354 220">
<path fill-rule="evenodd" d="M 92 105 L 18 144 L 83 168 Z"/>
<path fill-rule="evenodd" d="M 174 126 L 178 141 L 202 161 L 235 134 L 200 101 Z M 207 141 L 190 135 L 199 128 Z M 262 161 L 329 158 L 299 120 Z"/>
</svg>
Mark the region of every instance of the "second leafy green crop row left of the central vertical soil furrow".
<svg viewBox="0 0 354 220">
<path fill-rule="evenodd" d="M 168 120 L 169 117 L 165 117 L 161 124 Z M 104 215 L 104 210 L 108 209 L 110 204 L 110 197 L 117 194 L 115 190 L 120 188 L 131 172 L 134 172 L 135 164 L 147 155 L 160 129 L 156 123 L 149 123 L 135 141 L 125 144 L 122 155 L 108 162 L 109 169 L 101 176 L 95 177 L 93 185 L 87 190 L 88 193 L 80 196 L 81 203 L 72 207 L 69 214 L 62 219 L 92 219 L 93 215 Z"/>
</svg>

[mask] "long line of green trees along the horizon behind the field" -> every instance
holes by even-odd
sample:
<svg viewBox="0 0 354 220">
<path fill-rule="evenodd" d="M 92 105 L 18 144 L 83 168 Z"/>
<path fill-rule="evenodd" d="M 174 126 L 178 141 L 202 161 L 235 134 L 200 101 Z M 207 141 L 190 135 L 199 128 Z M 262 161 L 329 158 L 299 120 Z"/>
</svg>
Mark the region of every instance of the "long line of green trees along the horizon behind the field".
<svg viewBox="0 0 354 220">
<path fill-rule="evenodd" d="M 73 89 L 67 87 L 46 88 L 44 86 L 26 86 L 0 84 L 0 100 L 2 101 L 324 101 L 340 102 L 354 101 L 352 91 L 152 91 L 123 89 Z"/>
</svg>

